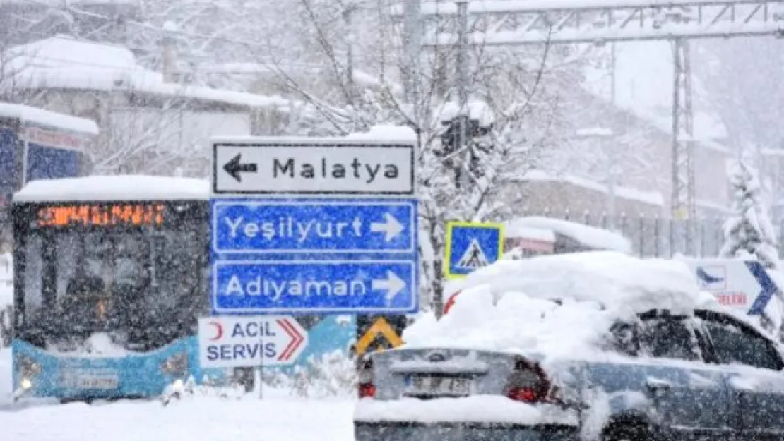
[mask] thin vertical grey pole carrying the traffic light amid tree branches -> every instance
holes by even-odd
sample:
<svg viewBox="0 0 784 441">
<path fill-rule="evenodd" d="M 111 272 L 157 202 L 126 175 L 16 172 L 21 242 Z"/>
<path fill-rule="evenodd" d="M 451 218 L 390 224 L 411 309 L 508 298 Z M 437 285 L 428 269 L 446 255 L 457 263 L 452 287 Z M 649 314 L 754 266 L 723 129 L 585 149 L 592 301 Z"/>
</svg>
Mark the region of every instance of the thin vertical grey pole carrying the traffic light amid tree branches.
<svg viewBox="0 0 784 441">
<path fill-rule="evenodd" d="M 467 0 L 460 0 L 457 3 L 457 29 L 458 29 L 458 42 L 457 42 L 457 95 L 459 100 L 458 112 L 458 138 L 457 149 L 460 156 L 463 158 L 461 167 L 457 170 L 457 189 L 463 190 L 463 193 L 468 190 L 470 186 L 470 177 L 468 172 L 470 170 L 468 161 L 470 161 L 470 151 L 468 149 L 468 121 L 470 120 L 470 110 L 468 109 L 468 2 Z"/>
</svg>

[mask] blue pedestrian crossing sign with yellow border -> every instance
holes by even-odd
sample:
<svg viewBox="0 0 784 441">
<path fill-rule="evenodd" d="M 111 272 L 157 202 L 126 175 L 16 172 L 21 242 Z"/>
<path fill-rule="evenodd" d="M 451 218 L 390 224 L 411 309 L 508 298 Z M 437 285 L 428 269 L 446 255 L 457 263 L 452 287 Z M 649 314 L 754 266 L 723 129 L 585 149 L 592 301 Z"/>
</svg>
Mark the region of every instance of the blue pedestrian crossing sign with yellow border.
<svg viewBox="0 0 784 441">
<path fill-rule="evenodd" d="M 465 277 L 501 258 L 503 224 L 447 222 L 445 248 L 445 277 Z"/>
</svg>

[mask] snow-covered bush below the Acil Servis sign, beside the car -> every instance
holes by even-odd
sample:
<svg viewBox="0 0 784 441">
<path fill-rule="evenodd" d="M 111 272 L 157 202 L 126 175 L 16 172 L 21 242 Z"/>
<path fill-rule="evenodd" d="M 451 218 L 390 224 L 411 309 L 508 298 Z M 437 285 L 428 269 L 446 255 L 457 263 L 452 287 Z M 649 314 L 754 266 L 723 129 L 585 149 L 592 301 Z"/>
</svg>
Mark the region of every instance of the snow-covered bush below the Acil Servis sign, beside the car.
<svg viewBox="0 0 784 441">
<path fill-rule="evenodd" d="M 349 397 L 357 390 L 354 360 L 339 350 L 318 358 L 310 356 L 304 367 L 292 371 L 264 374 L 263 382 L 292 396 L 308 398 Z"/>
</svg>

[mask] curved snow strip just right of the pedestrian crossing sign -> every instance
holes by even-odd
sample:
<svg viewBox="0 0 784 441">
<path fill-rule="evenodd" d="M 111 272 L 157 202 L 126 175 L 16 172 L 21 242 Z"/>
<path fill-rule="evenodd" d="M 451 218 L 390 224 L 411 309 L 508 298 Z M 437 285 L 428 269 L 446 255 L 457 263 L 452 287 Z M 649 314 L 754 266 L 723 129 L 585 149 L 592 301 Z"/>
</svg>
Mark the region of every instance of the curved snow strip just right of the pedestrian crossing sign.
<svg viewBox="0 0 784 441">
<path fill-rule="evenodd" d="M 506 222 L 505 229 L 506 237 L 527 237 L 525 234 L 529 233 L 530 229 L 550 230 L 572 237 L 592 248 L 618 251 L 626 254 L 632 252 L 631 242 L 620 234 L 561 219 L 537 216 L 513 219 Z"/>
</svg>

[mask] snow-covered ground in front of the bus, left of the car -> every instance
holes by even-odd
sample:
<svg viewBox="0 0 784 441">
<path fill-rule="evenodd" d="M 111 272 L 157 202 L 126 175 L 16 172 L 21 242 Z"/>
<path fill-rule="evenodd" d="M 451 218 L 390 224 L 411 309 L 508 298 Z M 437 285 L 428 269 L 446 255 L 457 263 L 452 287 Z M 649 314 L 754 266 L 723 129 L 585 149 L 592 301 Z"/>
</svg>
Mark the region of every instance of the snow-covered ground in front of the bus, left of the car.
<svg viewBox="0 0 784 441">
<path fill-rule="evenodd" d="M 2 439 L 30 441 L 350 441 L 353 401 L 219 399 L 0 411 Z"/>
</svg>

